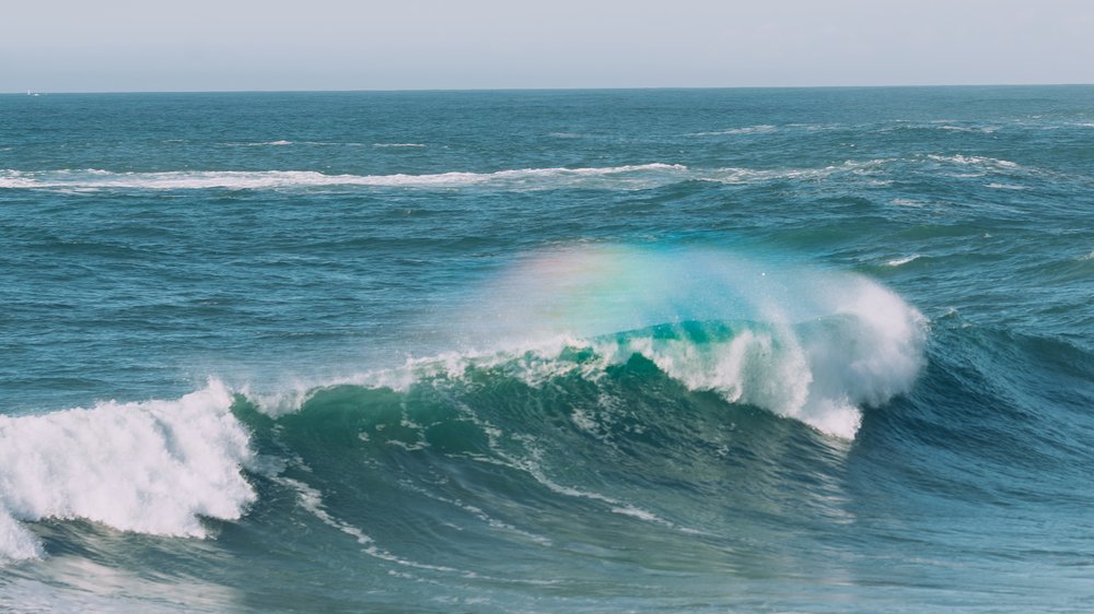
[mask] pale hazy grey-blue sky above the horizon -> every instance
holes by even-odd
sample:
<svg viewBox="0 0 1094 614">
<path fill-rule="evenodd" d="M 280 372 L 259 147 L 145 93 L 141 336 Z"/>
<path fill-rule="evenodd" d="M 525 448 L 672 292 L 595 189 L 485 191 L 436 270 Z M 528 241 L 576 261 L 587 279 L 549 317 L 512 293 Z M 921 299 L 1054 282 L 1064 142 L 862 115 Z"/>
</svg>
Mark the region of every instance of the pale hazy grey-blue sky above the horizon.
<svg viewBox="0 0 1094 614">
<path fill-rule="evenodd" d="M 1094 0 L 16 0 L 0 91 L 1094 83 Z"/>
</svg>

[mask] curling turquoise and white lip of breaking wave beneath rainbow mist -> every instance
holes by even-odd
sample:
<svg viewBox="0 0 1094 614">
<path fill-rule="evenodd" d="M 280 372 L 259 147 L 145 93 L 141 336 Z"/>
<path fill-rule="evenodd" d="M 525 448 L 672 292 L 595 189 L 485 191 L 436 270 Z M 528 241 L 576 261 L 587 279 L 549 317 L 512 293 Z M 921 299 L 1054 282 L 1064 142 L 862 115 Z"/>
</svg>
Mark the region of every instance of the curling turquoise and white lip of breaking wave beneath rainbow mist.
<svg viewBox="0 0 1094 614">
<path fill-rule="evenodd" d="M 608 363 L 641 355 L 689 390 L 853 439 L 863 405 L 910 390 L 924 341 L 918 311 L 880 286 L 859 292 L 850 309 L 812 322 L 682 322 L 591 346 Z"/>
</svg>

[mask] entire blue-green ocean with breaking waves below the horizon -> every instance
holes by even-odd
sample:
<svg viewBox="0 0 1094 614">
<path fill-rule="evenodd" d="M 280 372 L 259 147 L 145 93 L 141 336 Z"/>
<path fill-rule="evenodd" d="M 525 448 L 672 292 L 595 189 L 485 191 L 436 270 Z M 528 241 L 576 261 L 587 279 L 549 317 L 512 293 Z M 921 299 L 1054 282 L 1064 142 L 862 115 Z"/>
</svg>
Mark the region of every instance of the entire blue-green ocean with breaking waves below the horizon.
<svg viewBox="0 0 1094 614">
<path fill-rule="evenodd" d="M 1094 86 L 0 96 L 0 611 L 1094 610 Z"/>
</svg>

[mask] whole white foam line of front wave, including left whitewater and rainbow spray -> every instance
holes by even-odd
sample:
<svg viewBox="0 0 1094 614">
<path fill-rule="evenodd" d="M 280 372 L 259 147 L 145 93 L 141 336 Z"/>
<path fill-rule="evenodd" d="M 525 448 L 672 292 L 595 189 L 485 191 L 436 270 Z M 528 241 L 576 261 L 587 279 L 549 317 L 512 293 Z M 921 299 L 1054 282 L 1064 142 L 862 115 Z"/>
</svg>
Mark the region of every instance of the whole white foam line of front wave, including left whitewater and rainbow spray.
<svg viewBox="0 0 1094 614">
<path fill-rule="evenodd" d="M 277 418 L 338 386 L 406 391 L 484 374 L 595 383 L 642 359 L 689 390 L 849 439 L 862 409 L 907 392 L 923 365 L 924 318 L 876 282 L 720 250 L 548 250 L 473 296 L 451 322 L 458 351 L 400 367 L 281 391 L 213 379 L 177 401 L 0 416 L 0 559 L 44 554 L 25 521 L 202 538 L 200 518 L 241 518 L 257 497 L 245 474 L 277 472 L 233 413 L 244 397 Z"/>
</svg>

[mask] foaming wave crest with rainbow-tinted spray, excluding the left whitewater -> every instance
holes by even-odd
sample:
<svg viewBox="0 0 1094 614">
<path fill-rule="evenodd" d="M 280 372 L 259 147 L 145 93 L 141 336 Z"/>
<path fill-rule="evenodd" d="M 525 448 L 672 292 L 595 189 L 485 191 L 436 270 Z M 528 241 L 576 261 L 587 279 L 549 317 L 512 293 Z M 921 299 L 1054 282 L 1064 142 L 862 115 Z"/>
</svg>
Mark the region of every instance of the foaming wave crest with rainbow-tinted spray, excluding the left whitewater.
<svg viewBox="0 0 1094 614">
<path fill-rule="evenodd" d="M 330 385 L 407 390 L 484 373 L 532 386 L 573 375 L 595 381 L 641 356 L 689 390 L 850 439 L 861 408 L 910 390 L 924 361 L 926 318 L 880 284 L 703 250 L 552 251 L 472 303 L 450 327 L 464 346 L 493 350 L 441 353 Z M 310 393 L 258 402 L 279 415 Z"/>
</svg>

